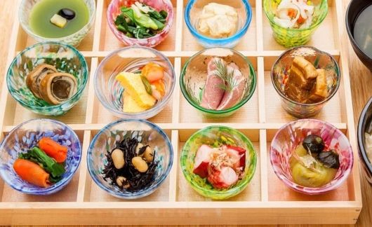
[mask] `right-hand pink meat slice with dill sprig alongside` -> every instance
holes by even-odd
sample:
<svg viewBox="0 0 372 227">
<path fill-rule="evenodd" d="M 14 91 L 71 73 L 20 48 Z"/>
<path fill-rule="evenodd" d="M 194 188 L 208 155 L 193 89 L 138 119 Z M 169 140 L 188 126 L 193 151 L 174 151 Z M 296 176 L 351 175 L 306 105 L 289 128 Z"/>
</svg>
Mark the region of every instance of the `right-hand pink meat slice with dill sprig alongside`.
<svg viewBox="0 0 372 227">
<path fill-rule="evenodd" d="M 239 71 L 239 67 L 237 67 L 236 64 L 230 63 L 229 65 L 227 65 L 227 71 L 234 71 L 233 79 L 234 81 L 236 81 L 234 82 L 234 84 L 236 85 L 232 90 L 226 90 L 220 104 L 218 105 L 217 110 L 229 109 L 237 104 L 237 102 L 239 102 L 239 100 L 243 96 L 244 87 L 246 85 L 246 78 L 241 75 L 241 71 Z"/>
</svg>

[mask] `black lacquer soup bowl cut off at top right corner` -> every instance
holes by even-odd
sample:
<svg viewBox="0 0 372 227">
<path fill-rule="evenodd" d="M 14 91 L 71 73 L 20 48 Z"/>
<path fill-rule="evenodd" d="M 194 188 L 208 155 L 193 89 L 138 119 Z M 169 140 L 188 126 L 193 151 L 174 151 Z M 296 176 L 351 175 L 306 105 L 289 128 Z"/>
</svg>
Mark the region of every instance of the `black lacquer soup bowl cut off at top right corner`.
<svg viewBox="0 0 372 227">
<path fill-rule="evenodd" d="M 354 40 L 354 25 L 355 21 L 357 20 L 359 14 L 364 11 L 365 8 L 372 4 L 372 0 L 352 0 L 350 1 L 349 6 L 347 7 L 346 11 L 346 29 L 347 34 L 349 35 L 350 42 L 352 43 L 352 48 L 354 52 L 359 57 L 359 60 L 363 62 L 363 64 L 372 71 L 372 58 L 368 57 L 366 53 L 364 53 L 361 48 L 357 45 Z"/>
</svg>

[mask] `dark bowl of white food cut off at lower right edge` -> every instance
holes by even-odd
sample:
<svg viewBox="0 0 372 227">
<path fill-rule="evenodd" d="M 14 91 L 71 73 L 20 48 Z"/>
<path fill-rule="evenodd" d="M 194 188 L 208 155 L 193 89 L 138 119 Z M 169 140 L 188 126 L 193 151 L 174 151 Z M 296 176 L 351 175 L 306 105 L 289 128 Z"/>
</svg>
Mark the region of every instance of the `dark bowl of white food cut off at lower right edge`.
<svg viewBox="0 0 372 227">
<path fill-rule="evenodd" d="M 372 133 L 371 121 L 372 97 L 368 100 L 366 106 L 364 106 L 363 111 L 361 111 L 357 131 L 361 168 L 369 184 L 372 184 L 372 160 L 368 159 L 368 153 L 371 153 L 371 151 L 368 150 L 371 150 L 371 148 L 366 145 L 366 133 Z M 371 154 L 369 156 L 371 156 Z"/>
</svg>

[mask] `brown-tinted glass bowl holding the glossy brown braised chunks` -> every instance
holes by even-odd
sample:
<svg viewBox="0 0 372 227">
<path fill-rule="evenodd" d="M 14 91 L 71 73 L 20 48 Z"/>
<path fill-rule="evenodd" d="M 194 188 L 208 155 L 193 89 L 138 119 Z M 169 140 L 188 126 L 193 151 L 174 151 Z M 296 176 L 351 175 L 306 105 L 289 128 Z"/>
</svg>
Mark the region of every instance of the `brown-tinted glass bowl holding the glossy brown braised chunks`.
<svg viewBox="0 0 372 227">
<path fill-rule="evenodd" d="M 328 97 L 323 101 L 314 104 L 303 104 L 289 99 L 284 94 L 284 86 L 289 74 L 288 71 L 291 69 L 293 59 L 296 56 L 305 57 L 316 69 L 326 70 Z M 340 86 L 340 76 L 340 68 L 332 55 L 310 46 L 300 46 L 286 50 L 274 63 L 271 71 L 272 84 L 280 95 L 281 106 L 288 114 L 296 118 L 308 118 L 318 114 L 323 106 L 336 94 Z"/>
</svg>

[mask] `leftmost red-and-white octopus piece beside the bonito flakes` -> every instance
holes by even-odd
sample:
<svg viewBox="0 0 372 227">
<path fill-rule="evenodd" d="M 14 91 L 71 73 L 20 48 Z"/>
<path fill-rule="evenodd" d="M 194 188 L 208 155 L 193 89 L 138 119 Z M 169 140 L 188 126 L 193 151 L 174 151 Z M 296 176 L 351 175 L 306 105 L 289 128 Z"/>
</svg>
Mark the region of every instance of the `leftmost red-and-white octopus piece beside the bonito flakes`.
<svg viewBox="0 0 372 227">
<path fill-rule="evenodd" d="M 197 156 L 194 160 L 194 174 L 199 175 L 201 178 L 208 177 L 208 165 L 211 161 L 211 152 L 213 149 L 208 145 L 201 145 L 197 151 Z"/>
</svg>

